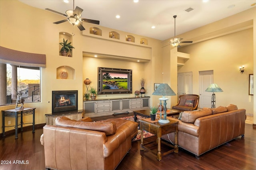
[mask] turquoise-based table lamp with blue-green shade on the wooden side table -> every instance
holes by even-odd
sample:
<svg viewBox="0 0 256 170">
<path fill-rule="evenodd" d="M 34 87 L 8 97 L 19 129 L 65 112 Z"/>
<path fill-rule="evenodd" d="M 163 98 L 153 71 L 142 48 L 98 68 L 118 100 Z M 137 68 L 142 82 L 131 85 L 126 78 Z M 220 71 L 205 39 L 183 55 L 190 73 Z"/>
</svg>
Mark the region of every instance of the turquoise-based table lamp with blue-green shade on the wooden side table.
<svg viewBox="0 0 256 170">
<path fill-rule="evenodd" d="M 152 93 L 152 95 L 163 96 L 162 98 L 159 98 L 159 100 L 160 100 L 160 106 L 162 105 L 162 100 L 164 100 L 164 117 L 162 118 L 162 110 L 160 109 L 160 119 L 158 120 L 158 122 L 169 123 L 170 121 L 166 118 L 166 110 L 167 110 L 166 100 L 168 100 L 168 98 L 164 96 L 175 96 L 176 94 L 168 84 L 162 83 L 156 88 L 156 90 Z"/>
</svg>

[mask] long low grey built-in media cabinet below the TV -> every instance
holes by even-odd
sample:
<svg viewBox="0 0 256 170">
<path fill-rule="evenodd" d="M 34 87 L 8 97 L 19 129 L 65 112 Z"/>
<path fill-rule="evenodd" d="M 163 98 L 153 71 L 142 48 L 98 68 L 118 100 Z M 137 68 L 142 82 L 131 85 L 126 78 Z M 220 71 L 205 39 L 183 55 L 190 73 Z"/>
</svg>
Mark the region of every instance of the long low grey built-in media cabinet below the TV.
<svg viewBox="0 0 256 170">
<path fill-rule="evenodd" d="M 83 117 L 99 117 L 149 108 L 150 97 L 84 100 Z"/>
</svg>

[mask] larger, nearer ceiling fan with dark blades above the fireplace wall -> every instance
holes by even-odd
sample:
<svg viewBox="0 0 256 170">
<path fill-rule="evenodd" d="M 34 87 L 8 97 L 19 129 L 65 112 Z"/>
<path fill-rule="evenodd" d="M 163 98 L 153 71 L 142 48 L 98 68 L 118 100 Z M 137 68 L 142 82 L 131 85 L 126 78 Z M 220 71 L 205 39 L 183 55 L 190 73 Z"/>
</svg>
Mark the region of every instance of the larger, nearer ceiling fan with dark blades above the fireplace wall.
<svg viewBox="0 0 256 170">
<path fill-rule="evenodd" d="M 83 9 L 79 8 L 78 6 L 76 6 L 76 9 L 74 9 L 74 0 L 73 0 L 73 10 L 67 10 L 66 14 L 62 14 L 60 12 L 51 10 L 49 8 L 46 8 L 46 10 L 67 17 L 67 19 L 65 19 L 65 20 L 54 22 L 55 24 L 59 24 L 59 23 L 62 23 L 62 22 L 69 21 L 72 25 L 77 25 L 77 27 L 80 29 L 80 31 L 85 30 L 81 21 L 88 22 L 88 23 L 94 23 L 94 24 L 100 24 L 100 21 L 97 21 L 97 20 L 90 20 L 90 19 L 81 18 L 81 16 L 82 16 L 81 13 L 83 12 Z"/>
</svg>

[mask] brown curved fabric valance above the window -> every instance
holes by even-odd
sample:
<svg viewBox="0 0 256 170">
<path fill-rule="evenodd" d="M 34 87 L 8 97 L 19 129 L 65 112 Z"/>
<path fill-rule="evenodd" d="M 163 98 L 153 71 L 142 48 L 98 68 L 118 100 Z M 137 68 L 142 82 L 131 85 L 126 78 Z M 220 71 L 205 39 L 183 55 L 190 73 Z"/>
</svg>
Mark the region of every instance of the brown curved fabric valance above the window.
<svg viewBox="0 0 256 170">
<path fill-rule="evenodd" d="M 0 63 L 31 67 L 46 67 L 46 55 L 26 53 L 0 46 Z"/>
</svg>

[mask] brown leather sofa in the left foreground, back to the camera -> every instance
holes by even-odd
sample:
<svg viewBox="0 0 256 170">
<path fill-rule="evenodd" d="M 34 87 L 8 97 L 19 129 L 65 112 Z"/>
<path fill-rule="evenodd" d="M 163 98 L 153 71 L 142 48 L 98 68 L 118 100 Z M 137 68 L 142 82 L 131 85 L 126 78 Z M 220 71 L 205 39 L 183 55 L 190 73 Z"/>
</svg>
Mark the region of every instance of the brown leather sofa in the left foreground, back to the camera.
<svg viewBox="0 0 256 170">
<path fill-rule="evenodd" d="M 45 166 L 53 170 L 114 170 L 138 134 L 138 123 L 123 119 L 58 117 L 55 123 L 43 127 L 40 139 Z"/>
</svg>

